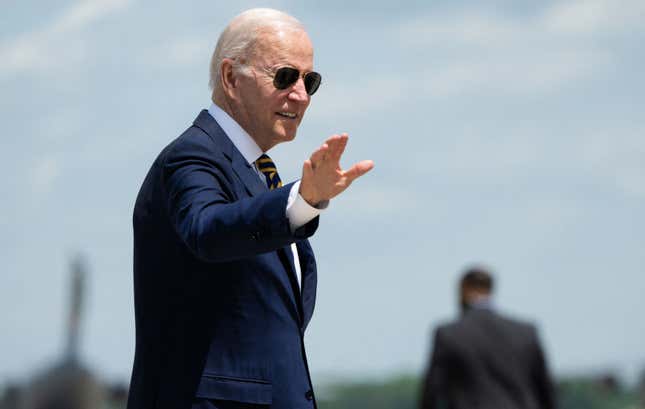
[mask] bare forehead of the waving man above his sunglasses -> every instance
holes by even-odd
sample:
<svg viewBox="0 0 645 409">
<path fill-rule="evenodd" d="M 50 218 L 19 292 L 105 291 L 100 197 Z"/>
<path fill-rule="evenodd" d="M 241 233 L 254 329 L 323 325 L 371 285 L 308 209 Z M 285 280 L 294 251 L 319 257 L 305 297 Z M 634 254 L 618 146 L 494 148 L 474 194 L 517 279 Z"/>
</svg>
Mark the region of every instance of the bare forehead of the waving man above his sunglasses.
<svg viewBox="0 0 645 409">
<path fill-rule="evenodd" d="M 253 54 L 255 60 L 267 67 L 290 65 L 301 70 L 313 68 L 313 46 L 303 30 L 261 32 Z"/>
</svg>

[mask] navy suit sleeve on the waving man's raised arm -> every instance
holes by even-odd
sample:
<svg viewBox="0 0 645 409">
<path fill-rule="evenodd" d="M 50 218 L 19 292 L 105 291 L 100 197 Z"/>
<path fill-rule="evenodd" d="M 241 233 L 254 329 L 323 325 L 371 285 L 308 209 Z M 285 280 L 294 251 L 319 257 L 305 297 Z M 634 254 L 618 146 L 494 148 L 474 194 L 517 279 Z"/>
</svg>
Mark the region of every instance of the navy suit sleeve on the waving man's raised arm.
<svg viewBox="0 0 645 409">
<path fill-rule="evenodd" d="M 237 199 L 233 185 L 241 182 L 230 166 L 222 154 L 199 146 L 175 148 L 163 162 L 170 223 L 197 258 L 207 262 L 246 258 L 315 232 L 318 218 L 291 231 L 285 213 L 291 184 Z"/>
</svg>

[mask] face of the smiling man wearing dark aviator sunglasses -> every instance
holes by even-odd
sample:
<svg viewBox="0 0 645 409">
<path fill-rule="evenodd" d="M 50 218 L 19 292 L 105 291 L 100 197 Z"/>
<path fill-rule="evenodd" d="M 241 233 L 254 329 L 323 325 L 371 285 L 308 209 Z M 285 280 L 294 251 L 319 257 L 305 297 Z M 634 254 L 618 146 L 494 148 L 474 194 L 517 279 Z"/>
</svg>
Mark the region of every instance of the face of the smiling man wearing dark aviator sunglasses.
<svg viewBox="0 0 645 409">
<path fill-rule="evenodd" d="M 296 137 L 311 99 L 302 78 L 286 89 L 276 89 L 273 75 L 284 66 L 301 74 L 312 71 L 313 47 L 304 31 L 263 34 L 246 65 L 247 73 L 236 74 L 232 109 L 242 128 L 267 151 Z"/>
</svg>

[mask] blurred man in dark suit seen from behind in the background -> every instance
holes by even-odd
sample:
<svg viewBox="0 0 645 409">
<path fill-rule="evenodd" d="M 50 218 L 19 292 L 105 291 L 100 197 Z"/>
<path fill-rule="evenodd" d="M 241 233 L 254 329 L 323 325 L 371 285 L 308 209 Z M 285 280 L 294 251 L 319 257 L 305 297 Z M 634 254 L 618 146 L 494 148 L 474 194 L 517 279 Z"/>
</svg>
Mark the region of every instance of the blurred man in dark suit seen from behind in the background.
<svg viewBox="0 0 645 409">
<path fill-rule="evenodd" d="M 422 409 L 551 409 L 555 398 L 532 325 L 505 318 L 491 302 L 483 268 L 460 283 L 461 318 L 435 331 Z"/>
</svg>

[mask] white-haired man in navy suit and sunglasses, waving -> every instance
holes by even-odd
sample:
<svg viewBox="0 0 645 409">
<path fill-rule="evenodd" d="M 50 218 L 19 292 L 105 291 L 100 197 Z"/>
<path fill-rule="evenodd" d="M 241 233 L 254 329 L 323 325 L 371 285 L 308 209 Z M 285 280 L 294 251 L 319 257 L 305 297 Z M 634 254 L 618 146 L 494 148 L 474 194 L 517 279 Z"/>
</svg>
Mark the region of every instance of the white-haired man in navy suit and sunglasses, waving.
<svg viewBox="0 0 645 409">
<path fill-rule="evenodd" d="M 246 11 L 220 35 L 213 104 L 155 160 L 134 209 L 136 351 L 129 409 L 315 407 L 303 336 L 316 297 L 307 238 L 344 171 L 334 135 L 286 186 L 266 152 L 291 141 L 320 85 L 303 26 Z"/>
</svg>

